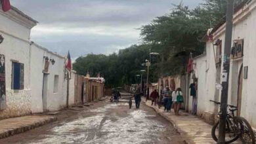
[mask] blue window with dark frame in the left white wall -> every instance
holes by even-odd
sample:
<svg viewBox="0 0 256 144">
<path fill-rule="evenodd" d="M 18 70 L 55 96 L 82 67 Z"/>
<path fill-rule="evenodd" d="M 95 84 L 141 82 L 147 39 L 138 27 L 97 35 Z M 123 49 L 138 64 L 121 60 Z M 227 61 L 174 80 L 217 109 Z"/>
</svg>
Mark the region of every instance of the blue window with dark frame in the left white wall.
<svg viewBox="0 0 256 144">
<path fill-rule="evenodd" d="M 12 62 L 12 90 L 24 89 L 24 63 Z"/>
</svg>

